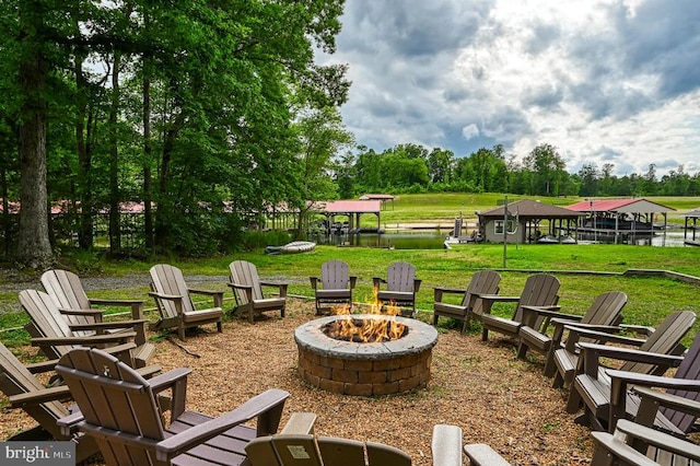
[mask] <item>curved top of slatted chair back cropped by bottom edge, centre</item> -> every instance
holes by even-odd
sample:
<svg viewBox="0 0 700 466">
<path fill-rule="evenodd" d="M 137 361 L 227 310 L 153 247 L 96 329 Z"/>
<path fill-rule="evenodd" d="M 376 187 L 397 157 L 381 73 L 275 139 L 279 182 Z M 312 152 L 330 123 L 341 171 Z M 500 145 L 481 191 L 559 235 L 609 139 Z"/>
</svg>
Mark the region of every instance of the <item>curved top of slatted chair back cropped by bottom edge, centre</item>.
<svg viewBox="0 0 700 466">
<path fill-rule="evenodd" d="M 330 436 L 315 438 L 312 434 L 261 436 L 254 439 L 245 450 L 256 466 L 411 465 L 410 456 L 393 446 Z"/>
</svg>

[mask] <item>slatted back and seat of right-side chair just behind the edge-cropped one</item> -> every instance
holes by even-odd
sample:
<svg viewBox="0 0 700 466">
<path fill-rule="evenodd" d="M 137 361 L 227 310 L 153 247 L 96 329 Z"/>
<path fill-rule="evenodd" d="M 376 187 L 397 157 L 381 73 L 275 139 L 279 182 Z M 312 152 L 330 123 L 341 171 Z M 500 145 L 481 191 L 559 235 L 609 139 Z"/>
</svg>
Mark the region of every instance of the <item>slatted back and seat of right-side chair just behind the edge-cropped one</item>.
<svg viewBox="0 0 700 466">
<path fill-rule="evenodd" d="M 660 354 L 672 354 L 678 347 L 682 337 L 696 323 L 696 314 L 691 311 L 678 311 L 662 321 L 658 327 L 639 347 L 641 351 Z M 657 366 L 643 362 L 628 361 L 620 366 L 621 371 L 637 372 L 640 374 L 657 374 L 666 372 L 666 366 Z"/>
</svg>

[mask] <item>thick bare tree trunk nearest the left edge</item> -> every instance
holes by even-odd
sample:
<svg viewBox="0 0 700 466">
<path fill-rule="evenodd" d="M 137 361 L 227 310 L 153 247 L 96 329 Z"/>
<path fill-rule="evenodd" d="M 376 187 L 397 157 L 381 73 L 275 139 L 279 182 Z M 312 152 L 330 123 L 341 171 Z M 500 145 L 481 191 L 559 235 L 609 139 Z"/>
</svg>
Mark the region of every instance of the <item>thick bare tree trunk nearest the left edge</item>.
<svg viewBox="0 0 700 466">
<path fill-rule="evenodd" d="M 20 123 L 20 230 L 16 260 L 33 269 L 52 261 L 48 238 L 46 191 L 47 65 L 36 35 L 43 30 L 42 9 L 34 1 L 20 2 L 20 62 L 22 93 Z"/>
</svg>

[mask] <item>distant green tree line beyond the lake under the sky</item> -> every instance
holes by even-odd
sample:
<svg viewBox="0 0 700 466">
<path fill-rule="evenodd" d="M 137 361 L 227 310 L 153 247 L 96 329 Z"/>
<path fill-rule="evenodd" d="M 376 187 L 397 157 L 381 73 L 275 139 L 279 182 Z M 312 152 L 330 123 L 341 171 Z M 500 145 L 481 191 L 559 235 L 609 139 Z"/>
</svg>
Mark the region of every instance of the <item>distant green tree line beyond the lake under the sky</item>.
<svg viewBox="0 0 700 466">
<path fill-rule="evenodd" d="M 557 148 L 540 144 L 518 162 L 502 145 L 455 158 L 448 150 L 399 144 L 381 153 L 359 148 L 338 159 L 336 179 L 340 196 L 364 193 L 511 193 L 530 196 L 698 196 L 700 173 L 682 165 L 657 176 L 651 164 L 644 174 L 617 176 L 615 165 L 583 165 L 569 173 Z"/>
</svg>

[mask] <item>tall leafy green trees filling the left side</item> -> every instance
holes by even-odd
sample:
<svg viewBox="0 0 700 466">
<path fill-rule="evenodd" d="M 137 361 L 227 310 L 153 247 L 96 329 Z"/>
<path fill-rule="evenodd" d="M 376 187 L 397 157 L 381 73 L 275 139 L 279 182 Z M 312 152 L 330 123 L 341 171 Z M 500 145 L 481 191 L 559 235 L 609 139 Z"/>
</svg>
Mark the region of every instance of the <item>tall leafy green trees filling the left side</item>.
<svg viewBox="0 0 700 466">
<path fill-rule="evenodd" d="M 79 215 L 81 248 L 107 209 L 118 252 L 118 206 L 135 200 L 149 249 L 198 255 L 236 244 L 244 220 L 228 213 L 305 206 L 328 189 L 308 171 L 351 141 L 337 114 L 350 83 L 345 66 L 318 66 L 314 53 L 335 50 L 342 9 L 0 0 L 0 198 L 16 261 L 50 263 L 51 201 Z"/>
</svg>

